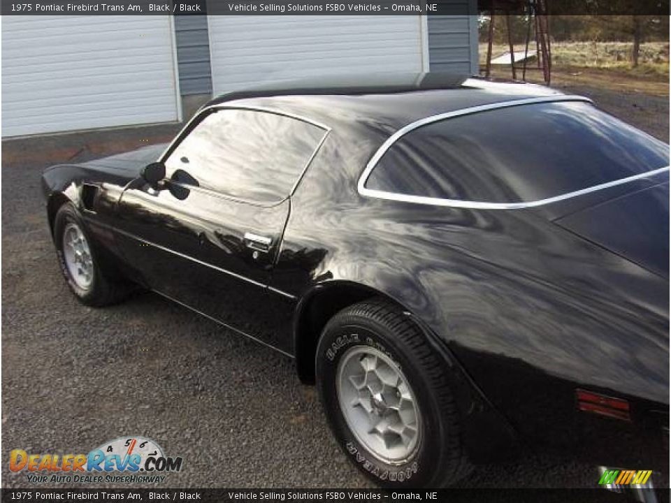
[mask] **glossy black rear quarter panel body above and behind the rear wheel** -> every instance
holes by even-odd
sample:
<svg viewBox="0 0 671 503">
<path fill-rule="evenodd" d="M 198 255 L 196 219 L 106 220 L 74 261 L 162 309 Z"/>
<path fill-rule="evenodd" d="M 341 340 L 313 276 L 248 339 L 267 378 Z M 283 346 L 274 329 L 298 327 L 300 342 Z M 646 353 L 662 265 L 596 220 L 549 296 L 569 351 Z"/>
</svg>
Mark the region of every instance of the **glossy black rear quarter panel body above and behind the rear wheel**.
<svg viewBox="0 0 671 503">
<path fill-rule="evenodd" d="M 362 198 L 377 146 L 365 138 L 333 134 L 306 173 L 273 285 L 300 297 L 348 281 L 394 298 L 529 444 L 611 464 L 663 459 L 650 411 L 668 417 L 668 281 L 531 210 Z M 577 387 L 630 400 L 633 422 L 577 412 Z"/>
</svg>

